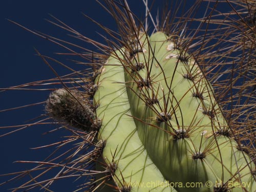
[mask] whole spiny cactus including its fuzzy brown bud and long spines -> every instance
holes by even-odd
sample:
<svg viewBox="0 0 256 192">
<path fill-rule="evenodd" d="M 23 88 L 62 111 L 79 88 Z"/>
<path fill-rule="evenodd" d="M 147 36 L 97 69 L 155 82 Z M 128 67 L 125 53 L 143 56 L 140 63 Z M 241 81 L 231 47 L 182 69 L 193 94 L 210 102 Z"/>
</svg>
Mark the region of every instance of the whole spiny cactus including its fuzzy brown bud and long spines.
<svg viewBox="0 0 256 192">
<path fill-rule="evenodd" d="M 79 72 L 74 88 L 60 79 L 63 88 L 50 94 L 45 108 L 82 141 L 67 164 L 35 168 L 61 166 L 61 173 L 42 182 L 38 175 L 19 189 L 84 175 L 88 181 L 78 190 L 256 191 L 254 2 L 227 1 L 223 20 L 213 16 L 217 3 L 204 17 L 189 19 L 202 3 L 196 1 L 180 22 L 169 20 L 168 11 L 161 25 L 151 19 L 153 32 L 144 3 L 145 26 L 126 1 L 105 1 L 121 38 L 102 27 L 117 41 L 106 39 L 108 46 L 72 31 L 102 53 L 84 54 L 97 58 L 89 63 L 94 71 Z M 194 19 L 198 28 L 188 29 Z M 217 27 L 204 29 L 204 23 Z M 77 156 L 81 151 L 87 153 Z"/>
</svg>

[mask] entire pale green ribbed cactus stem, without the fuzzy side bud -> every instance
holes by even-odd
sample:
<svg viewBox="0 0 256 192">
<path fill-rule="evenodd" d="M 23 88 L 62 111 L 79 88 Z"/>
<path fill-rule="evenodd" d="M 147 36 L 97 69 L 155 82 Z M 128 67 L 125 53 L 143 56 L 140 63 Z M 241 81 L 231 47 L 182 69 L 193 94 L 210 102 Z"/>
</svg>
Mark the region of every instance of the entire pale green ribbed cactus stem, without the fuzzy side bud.
<svg viewBox="0 0 256 192">
<path fill-rule="evenodd" d="M 193 56 L 175 49 L 162 32 L 151 37 L 141 33 L 129 43 L 132 54 L 115 51 L 95 81 L 99 135 L 106 141 L 103 158 L 116 163 L 115 181 L 123 177 L 131 186 L 137 184 L 131 191 L 175 191 L 143 186 L 165 180 L 202 184 L 177 191 L 214 191 L 207 182 L 215 188 L 246 183 L 252 191 L 255 166 L 248 166 L 249 156 L 231 139 L 212 87 Z"/>
</svg>

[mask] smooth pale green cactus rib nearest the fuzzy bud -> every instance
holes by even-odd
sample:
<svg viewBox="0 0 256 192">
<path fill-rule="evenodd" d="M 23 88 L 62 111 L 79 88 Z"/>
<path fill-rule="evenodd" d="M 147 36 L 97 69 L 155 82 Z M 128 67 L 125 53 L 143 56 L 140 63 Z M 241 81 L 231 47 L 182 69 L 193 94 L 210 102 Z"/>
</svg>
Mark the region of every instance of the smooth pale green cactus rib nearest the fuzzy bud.
<svg viewBox="0 0 256 192">
<path fill-rule="evenodd" d="M 121 58 L 121 52 L 113 53 L 103 66 L 101 74 L 95 79 L 95 82 L 99 83 L 94 95 L 95 103 L 99 104 L 96 114 L 102 120 L 98 137 L 106 140 L 102 157 L 107 164 L 112 163 L 114 159 L 117 168 L 113 178 L 121 191 L 130 191 L 122 188 L 125 181 L 130 184 L 131 191 L 175 192 L 175 189 L 166 185 L 165 179 L 148 158 L 138 137 L 135 122 L 131 117 Z M 110 190 L 113 189 L 100 189 Z"/>
</svg>

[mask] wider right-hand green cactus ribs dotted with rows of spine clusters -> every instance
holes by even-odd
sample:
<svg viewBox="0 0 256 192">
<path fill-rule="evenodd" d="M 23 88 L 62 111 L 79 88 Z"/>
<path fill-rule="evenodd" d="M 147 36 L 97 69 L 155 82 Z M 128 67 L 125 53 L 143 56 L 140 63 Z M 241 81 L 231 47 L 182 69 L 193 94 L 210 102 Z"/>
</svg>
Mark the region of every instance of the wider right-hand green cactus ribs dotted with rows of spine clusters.
<svg viewBox="0 0 256 192">
<path fill-rule="evenodd" d="M 248 191 L 255 189 L 254 164 L 237 149 L 231 135 L 219 134 L 229 129 L 228 124 L 193 56 L 174 49 L 162 32 L 149 40 L 145 37 L 140 34 L 137 40 L 137 49 L 143 51 L 126 59 L 125 81 L 139 137 L 165 179 L 184 186 L 203 184 L 178 191 L 226 191 L 228 181 L 246 182 Z M 133 72 L 140 62 L 145 68 Z M 157 102 L 146 103 L 154 97 Z M 207 181 L 220 186 L 207 187 Z M 220 189 L 221 183 L 227 188 Z M 241 186 L 231 189 L 241 190 Z"/>
</svg>

